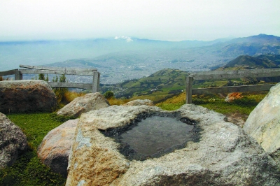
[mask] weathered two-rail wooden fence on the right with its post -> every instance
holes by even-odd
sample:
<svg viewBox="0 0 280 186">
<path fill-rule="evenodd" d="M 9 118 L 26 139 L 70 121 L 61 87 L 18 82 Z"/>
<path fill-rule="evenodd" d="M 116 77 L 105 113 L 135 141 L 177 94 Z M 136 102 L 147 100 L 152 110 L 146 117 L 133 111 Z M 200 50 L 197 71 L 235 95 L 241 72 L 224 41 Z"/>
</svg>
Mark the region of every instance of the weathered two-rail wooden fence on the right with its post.
<svg viewBox="0 0 280 186">
<path fill-rule="evenodd" d="M 189 73 L 186 77 L 186 103 L 192 103 L 193 94 L 213 94 L 228 92 L 258 92 L 269 90 L 274 85 L 242 85 L 193 89 L 193 80 L 218 80 L 235 78 L 262 78 L 280 76 L 280 69 L 253 69 L 238 71 L 204 71 Z"/>
</svg>

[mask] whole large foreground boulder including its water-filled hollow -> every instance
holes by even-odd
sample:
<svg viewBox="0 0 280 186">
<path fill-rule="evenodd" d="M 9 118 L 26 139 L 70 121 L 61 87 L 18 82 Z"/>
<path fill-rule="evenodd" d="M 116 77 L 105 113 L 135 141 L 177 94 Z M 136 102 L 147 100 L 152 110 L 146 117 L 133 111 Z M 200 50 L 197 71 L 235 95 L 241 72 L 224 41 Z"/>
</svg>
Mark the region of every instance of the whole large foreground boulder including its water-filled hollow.
<svg viewBox="0 0 280 186">
<path fill-rule="evenodd" d="M 275 162 L 253 138 L 201 106 L 93 110 L 81 115 L 75 139 L 66 185 L 280 183 Z"/>
</svg>

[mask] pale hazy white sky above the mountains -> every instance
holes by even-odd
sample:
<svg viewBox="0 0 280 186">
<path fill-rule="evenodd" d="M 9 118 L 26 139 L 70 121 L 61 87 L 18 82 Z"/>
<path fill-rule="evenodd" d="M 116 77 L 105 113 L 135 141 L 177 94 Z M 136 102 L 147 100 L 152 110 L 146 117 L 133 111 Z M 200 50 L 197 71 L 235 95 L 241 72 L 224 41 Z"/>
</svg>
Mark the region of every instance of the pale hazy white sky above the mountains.
<svg viewBox="0 0 280 186">
<path fill-rule="evenodd" d="M 0 0 L 0 41 L 280 36 L 280 0 Z"/>
</svg>

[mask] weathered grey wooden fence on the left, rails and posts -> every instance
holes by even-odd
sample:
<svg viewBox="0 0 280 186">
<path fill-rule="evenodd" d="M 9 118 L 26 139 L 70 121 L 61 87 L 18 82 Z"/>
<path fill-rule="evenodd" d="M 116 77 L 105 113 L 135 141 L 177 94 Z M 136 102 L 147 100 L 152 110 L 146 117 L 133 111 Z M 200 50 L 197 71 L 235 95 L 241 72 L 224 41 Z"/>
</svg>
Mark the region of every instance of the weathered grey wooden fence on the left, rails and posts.
<svg viewBox="0 0 280 186">
<path fill-rule="evenodd" d="M 71 87 L 92 90 L 92 92 L 99 92 L 100 73 L 97 69 L 77 69 L 77 68 L 63 68 L 63 67 L 48 67 L 48 66 L 29 66 L 20 65 L 26 69 L 13 69 L 10 71 L 0 72 L 0 76 L 15 75 L 15 80 L 22 80 L 22 74 L 64 74 L 64 75 L 78 75 L 78 76 L 92 76 L 92 83 L 62 83 L 62 82 L 48 82 L 51 87 Z"/>
</svg>

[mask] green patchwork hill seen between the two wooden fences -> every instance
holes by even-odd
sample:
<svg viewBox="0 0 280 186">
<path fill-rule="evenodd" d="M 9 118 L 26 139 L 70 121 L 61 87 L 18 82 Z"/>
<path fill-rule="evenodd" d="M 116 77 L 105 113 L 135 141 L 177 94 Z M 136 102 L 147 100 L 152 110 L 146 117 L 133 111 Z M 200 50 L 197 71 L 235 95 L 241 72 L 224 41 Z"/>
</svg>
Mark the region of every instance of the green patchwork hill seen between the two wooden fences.
<svg viewBox="0 0 280 186">
<path fill-rule="evenodd" d="M 186 87 L 186 76 L 186 71 L 162 69 L 148 77 L 125 80 L 114 85 L 101 85 L 100 89 L 102 92 L 113 91 L 117 98 L 134 96 L 134 99 L 145 99 L 148 96 L 158 102 L 182 92 Z"/>
</svg>

